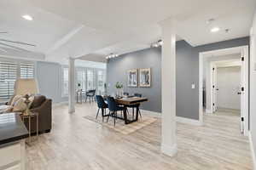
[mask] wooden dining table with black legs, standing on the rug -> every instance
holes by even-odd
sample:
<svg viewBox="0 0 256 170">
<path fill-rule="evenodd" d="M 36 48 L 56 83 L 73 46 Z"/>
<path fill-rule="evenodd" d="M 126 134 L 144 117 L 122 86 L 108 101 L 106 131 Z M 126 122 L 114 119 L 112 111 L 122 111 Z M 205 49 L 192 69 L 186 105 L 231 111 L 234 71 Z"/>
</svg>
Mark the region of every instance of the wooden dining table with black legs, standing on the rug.
<svg viewBox="0 0 256 170">
<path fill-rule="evenodd" d="M 115 101 L 119 104 L 119 105 L 124 105 L 125 110 L 124 110 L 124 116 L 117 116 L 118 119 L 124 120 L 125 124 L 130 124 L 132 122 L 137 122 L 138 120 L 138 115 L 139 115 L 139 105 L 137 104 L 141 104 L 143 102 L 148 101 L 147 98 L 145 97 L 122 97 L 122 98 L 116 98 Z M 130 105 L 136 105 L 136 116 L 129 118 L 127 115 L 127 107 Z"/>
</svg>

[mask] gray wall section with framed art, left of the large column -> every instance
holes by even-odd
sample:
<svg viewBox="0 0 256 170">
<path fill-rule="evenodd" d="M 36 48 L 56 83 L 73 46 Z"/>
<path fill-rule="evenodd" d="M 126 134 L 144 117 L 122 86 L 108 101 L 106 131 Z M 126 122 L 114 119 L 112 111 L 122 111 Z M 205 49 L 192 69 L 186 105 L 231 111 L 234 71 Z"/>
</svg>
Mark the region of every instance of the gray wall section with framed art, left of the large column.
<svg viewBox="0 0 256 170">
<path fill-rule="evenodd" d="M 131 54 L 125 54 L 111 59 L 107 64 L 108 94 L 115 94 L 116 82 L 123 82 L 124 91 L 130 94 L 140 93 L 149 99 L 142 105 L 148 111 L 161 110 L 161 74 L 160 74 L 160 48 L 149 48 Z M 151 68 L 151 88 L 127 88 L 126 71 L 137 68 Z"/>
</svg>

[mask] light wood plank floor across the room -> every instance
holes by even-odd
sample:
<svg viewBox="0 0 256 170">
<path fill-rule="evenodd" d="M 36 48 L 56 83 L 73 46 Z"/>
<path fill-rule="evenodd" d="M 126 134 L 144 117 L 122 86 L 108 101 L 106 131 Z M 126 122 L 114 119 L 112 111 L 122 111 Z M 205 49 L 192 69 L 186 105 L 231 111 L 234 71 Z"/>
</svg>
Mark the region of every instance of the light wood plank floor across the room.
<svg viewBox="0 0 256 170">
<path fill-rule="evenodd" d="M 83 116 L 96 105 L 53 110 L 51 133 L 26 146 L 27 170 L 212 170 L 252 169 L 247 137 L 236 116 L 205 115 L 204 126 L 177 123 L 177 156 L 160 153 L 160 118 L 124 135 Z M 146 114 L 143 112 L 143 114 Z"/>
</svg>

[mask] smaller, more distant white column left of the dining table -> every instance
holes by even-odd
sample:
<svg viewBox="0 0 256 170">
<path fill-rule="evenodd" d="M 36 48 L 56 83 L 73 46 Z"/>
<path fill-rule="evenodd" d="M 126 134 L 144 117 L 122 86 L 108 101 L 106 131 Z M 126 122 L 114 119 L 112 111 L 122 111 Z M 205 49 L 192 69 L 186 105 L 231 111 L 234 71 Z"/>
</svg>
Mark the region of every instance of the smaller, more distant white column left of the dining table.
<svg viewBox="0 0 256 170">
<path fill-rule="evenodd" d="M 75 112 L 75 66 L 74 59 L 69 58 L 68 67 L 68 112 Z"/>
</svg>

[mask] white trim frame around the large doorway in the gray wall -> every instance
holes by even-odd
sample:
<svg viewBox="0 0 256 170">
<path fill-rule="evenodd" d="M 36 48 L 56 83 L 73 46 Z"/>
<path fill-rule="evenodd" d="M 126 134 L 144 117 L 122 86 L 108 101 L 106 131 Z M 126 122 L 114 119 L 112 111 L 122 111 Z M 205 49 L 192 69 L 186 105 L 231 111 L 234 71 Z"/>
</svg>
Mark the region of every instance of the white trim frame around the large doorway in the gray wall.
<svg viewBox="0 0 256 170">
<path fill-rule="evenodd" d="M 248 111 L 248 59 L 249 59 L 249 47 L 248 46 L 239 46 L 236 48 L 223 48 L 223 49 L 217 49 L 217 50 L 212 50 L 212 51 L 207 51 L 207 52 L 201 52 L 199 53 L 199 121 L 201 124 L 203 123 L 203 71 L 204 71 L 204 59 L 207 57 L 211 56 L 213 53 L 230 53 L 232 51 L 236 51 L 237 53 L 244 54 L 244 62 L 245 62 L 245 75 L 246 75 L 246 80 L 245 80 L 245 113 L 243 113 L 244 116 L 244 135 L 247 136 L 248 134 L 248 122 L 249 122 L 249 111 Z M 212 94 L 212 93 L 211 93 Z M 212 98 L 212 96 L 211 96 Z"/>
</svg>

